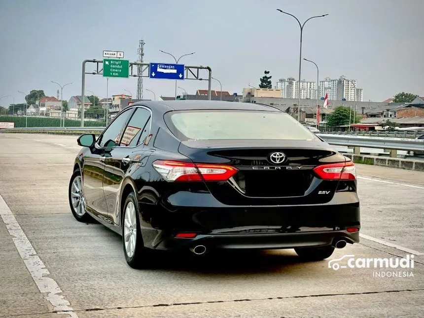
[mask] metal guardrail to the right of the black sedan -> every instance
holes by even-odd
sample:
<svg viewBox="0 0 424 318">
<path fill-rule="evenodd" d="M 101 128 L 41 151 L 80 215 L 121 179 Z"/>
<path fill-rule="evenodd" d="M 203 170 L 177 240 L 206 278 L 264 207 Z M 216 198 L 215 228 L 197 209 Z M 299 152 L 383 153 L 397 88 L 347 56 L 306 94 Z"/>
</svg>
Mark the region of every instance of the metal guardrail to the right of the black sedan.
<svg viewBox="0 0 424 318">
<path fill-rule="evenodd" d="M 390 150 L 424 151 L 424 140 L 408 138 L 364 137 L 317 134 L 329 144 Z"/>
</svg>

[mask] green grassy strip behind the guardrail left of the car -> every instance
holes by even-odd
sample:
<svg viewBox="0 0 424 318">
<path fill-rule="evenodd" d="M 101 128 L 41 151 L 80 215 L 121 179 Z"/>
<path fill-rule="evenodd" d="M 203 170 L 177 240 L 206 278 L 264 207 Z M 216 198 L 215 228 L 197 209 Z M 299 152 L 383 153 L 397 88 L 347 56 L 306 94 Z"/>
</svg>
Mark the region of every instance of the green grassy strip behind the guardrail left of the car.
<svg viewBox="0 0 424 318">
<path fill-rule="evenodd" d="M 15 127 L 25 127 L 25 116 L 0 116 L 1 121 L 14 122 Z M 49 117 L 31 117 L 28 116 L 28 127 L 59 127 L 60 118 L 49 118 Z M 80 127 L 80 120 L 65 119 L 65 127 Z M 84 121 L 85 127 L 105 127 L 104 121 Z"/>
</svg>

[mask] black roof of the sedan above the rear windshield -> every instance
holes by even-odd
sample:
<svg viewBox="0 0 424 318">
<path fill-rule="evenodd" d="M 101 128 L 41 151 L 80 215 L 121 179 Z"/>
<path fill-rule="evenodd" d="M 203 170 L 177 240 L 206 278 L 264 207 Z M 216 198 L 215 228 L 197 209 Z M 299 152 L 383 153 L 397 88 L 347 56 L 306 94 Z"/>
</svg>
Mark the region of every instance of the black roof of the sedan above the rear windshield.
<svg viewBox="0 0 424 318">
<path fill-rule="evenodd" d="M 257 104 L 228 101 L 203 101 L 203 100 L 177 100 L 177 101 L 141 101 L 131 106 L 145 105 L 162 112 L 171 110 L 191 110 L 191 109 L 237 109 L 237 110 L 262 110 L 283 112 L 277 107 Z"/>
</svg>

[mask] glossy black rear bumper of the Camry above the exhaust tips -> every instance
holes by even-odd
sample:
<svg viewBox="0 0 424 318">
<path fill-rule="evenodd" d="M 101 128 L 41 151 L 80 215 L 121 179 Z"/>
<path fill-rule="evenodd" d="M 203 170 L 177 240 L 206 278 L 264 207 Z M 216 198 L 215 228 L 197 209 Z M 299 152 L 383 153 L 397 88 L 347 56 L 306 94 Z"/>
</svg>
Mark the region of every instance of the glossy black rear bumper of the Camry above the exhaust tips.
<svg viewBox="0 0 424 318">
<path fill-rule="evenodd" d="M 348 227 L 360 229 L 356 193 L 337 193 L 321 205 L 249 207 L 223 205 L 211 195 L 202 195 L 204 200 L 200 200 L 189 194 L 181 204 L 140 205 L 145 247 L 273 249 L 328 246 L 339 239 L 359 242 L 358 232 L 347 231 Z M 196 236 L 176 238 L 178 233 Z"/>
</svg>

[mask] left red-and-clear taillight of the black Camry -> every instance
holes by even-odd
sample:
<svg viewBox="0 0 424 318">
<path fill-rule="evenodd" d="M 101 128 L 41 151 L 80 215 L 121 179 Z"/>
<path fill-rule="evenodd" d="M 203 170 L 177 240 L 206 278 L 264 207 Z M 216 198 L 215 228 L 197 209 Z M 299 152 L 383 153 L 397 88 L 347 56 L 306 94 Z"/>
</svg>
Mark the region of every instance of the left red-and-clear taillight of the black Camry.
<svg viewBox="0 0 424 318">
<path fill-rule="evenodd" d="M 182 161 L 157 160 L 153 167 L 167 181 L 226 181 L 238 169 L 219 164 L 189 163 Z M 200 174 L 199 174 L 200 172 Z"/>
</svg>

